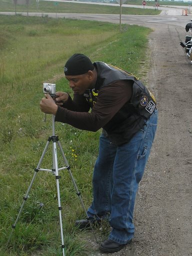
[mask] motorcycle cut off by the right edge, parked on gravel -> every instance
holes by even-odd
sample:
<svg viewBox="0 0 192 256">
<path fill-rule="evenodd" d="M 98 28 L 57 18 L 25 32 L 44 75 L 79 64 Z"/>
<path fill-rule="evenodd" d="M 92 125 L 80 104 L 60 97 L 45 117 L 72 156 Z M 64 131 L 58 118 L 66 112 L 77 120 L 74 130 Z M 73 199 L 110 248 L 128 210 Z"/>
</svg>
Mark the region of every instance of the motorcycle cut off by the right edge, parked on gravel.
<svg viewBox="0 0 192 256">
<path fill-rule="evenodd" d="M 184 42 L 180 41 L 180 46 L 184 48 L 186 56 L 190 59 L 190 63 L 192 64 L 192 19 L 190 21 L 191 22 L 185 25 L 185 31 L 188 32 L 190 30 L 191 35 L 185 35 Z"/>
</svg>

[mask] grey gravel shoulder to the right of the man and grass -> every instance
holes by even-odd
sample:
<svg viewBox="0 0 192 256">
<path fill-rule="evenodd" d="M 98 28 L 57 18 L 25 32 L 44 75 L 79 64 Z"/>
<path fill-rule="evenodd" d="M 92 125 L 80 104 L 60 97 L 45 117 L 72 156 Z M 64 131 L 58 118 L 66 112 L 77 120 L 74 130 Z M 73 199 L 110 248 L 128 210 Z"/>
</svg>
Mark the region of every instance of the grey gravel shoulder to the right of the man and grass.
<svg viewBox="0 0 192 256">
<path fill-rule="evenodd" d="M 192 68 L 179 45 L 184 36 L 184 28 L 165 24 L 149 35 L 146 79 L 158 127 L 137 194 L 133 242 L 113 256 L 192 255 Z"/>
</svg>

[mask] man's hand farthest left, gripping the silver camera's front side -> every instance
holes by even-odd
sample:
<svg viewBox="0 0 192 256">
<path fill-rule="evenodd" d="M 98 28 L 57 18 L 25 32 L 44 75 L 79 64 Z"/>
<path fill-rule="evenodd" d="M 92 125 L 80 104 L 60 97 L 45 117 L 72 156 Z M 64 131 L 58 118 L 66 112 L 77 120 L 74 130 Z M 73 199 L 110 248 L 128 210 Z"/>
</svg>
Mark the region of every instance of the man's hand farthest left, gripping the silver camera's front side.
<svg viewBox="0 0 192 256">
<path fill-rule="evenodd" d="M 40 101 L 40 109 L 46 114 L 56 114 L 58 106 L 49 94 L 44 94 L 45 97 Z"/>
</svg>

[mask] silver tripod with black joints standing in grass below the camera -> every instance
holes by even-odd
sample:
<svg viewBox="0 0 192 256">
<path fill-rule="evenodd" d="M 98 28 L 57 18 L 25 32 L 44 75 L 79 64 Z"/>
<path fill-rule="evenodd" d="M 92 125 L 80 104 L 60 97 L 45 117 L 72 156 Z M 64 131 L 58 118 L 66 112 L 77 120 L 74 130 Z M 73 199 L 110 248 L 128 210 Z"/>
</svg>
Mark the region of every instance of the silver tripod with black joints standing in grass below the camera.
<svg viewBox="0 0 192 256">
<path fill-rule="evenodd" d="M 49 143 L 50 143 L 51 140 L 52 140 L 52 142 L 53 142 L 53 143 L 52 143 L 52 169 L 42 169 L 42 168 L 40 168 L 40 165 L 41 165 L 42 159 L 43 159 L 43 157 L 44 157 L 44 155 L 45 155 L 45 152 L 46 152 L 46 150 L 47 150 L 47 148 L 48 148 L 48 145 L 49 145 Z M 64 163 L 65 163 L 65 165 L 66 165 L 66 166 L 61 167 L 61 168 L 58 168 L 58 164 L 57 164 L 56 144 L 58 145 L 58 147 L 59 147 L 59 149 L 60 149 L 60 153 L 61 153 L 62 158 L 63 158 L 63 160 L 64 160 Z M 81 203 L 81 205 L 82 205 L 82 208 L 84 209 L 84 212 L 85 212 L 85 214 L 86 214 L 86 218 L 88 219 L 88 215 L 87 215 L 85 206 L 84 206 L 84 204 L 83 204 L 82 198 L 81 198 L 81 196 L 80 196 L 80 192 L 79 192 L 79 190 L 78 190 L 78 188 L 77 188 L 77 186 L 76 186 L 75 180 L 74 180 L 74 178 L 73 178 L 73 176 L 72 176 L 72 173 L 71 173 L 71 171 L 70 171 L 70 166 L 68 165 L 68 162 L 67 162 L 67 160 L 66 160 L 66 157 L 65 157 L 65 155 L 64 155 L 64 152 L 63 152 L 62 147 L 61 147 L 61 145 L 60 145 L 60 142 L 59 142 L 59 140 L 58 140 L 58 136 L 55 135 L 55 130 L 54 130 L 54 115 L 52 115 L 52 136 L 49 136 L 49 137 L 48 137 L 48 140 L 47 140 L 47 142 L 46 142 L 46 145 L 45 145 L 45 147 L 44 147 L 44 150 L 43 150 L 43 152 L 42 152 L 42 155 L 41 155 L 41 157 L 40 157 L 40 160 L 39 160 L 39 162 L 38 162 L 38 164 L 37 164 L 37 167 L 34 169 L 34 175 L 33 175 L 32 179 L 31 179 L 30 185 L 28 186 L 28 189 L 27 189 L 27 191 L 26 191 L 26 194 L 25 194 L 25 196 L 23 197 L 22 205 L 21 205 L 21 207 L 20 207 L 20 210 L 19 210 L 19 212 L 18 212 L 18 215 L 17 215 L 17 217 L 16 217 L 16 220 L 15 220 L 14 224 L 12 225 L 12 228 L 15 228 L 15 226 L 16 226 L 16 223 L 17 223 L 17 221 L 18 221 L 18 219 L 19 219 L 19 216 L 20 216 L 20 214 L 21 214 L 21 211 L 22 211 L 22 208 L 23 208 L 23 206 L 24 206 L 24 203 L 25 203 L 26 199 L 28 198 L 28 194 L 29 194 L 30 188 L 31 188 L 31 186 L 32 186 L 32 184 L 33 184 L 33 182 L 34 182 L 34 179 L 35 179 L 35 177 L 36 177 L 37 172 L 38 172 L 39 170 L 51 171 L 51 172 L 55 175 L 55 178 L 56 178 L 57 199 L 58 199 L 58 212 L 59 212 L 59 223 L 60 223 L 60 234 L 61 234 L 61 248 L 62 248 L 62 255 L 64 256 L 64 239 L 63 239 L 62 216 L 61 216 L 61 209 L 62 209 L 62 207 L 61 207 L 61 205 L 60 205 L 60 192 L 59 192 L 59 178 L 60 178 L 60 176 L 58 175 L 59 170 L 62 170 L 62 169 L 67 169 L 67 170 L 68 170 L 68 173 L 69 173 L 69 175 L 70 175 L 70 178 L 71 178 L 72 183 L 73 183 L 73 185 L 74 185 L 74 188 L 75 188 L 75 190 L 76 190 L 76 194 L 78 195 L 78 197 L 79 197 L 79 199 L 80 199 L 80 203 Z M 91 226 L 91 223 L 90 223 L 90 222 L 89 222 L 89 224 L 90 224 L 90 226 Z M 92 226 L 91 226 L 91 229 L 92 229 Z M 10 233 L 10 236 L 9 236 L 9 239 L 8 239 L 8 243 L 9 243 L 9 240 L 10 240 L 10 237 L 11 237 L 11 234 L 12 234 L 12 231 L 13 231 L 13 229 L 11 230 L 11 233 Z"/>
</svg>

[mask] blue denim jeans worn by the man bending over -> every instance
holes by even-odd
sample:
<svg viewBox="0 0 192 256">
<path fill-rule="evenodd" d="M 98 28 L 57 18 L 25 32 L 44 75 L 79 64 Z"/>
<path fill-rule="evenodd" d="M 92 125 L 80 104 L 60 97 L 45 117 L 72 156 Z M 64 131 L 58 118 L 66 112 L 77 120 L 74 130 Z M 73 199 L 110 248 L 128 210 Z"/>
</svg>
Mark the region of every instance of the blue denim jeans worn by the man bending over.
<svg viewBox="0 0 192 256">
<path fill-rule="evenodd" d="M 128 143 L 115 146 L 103 134 L 93 171 L 93 201 L 89 217 L 107 218 L 108 239 L 126 243 L 134 235 L 133 210 L 157 126 L 157 110 Z"/>
</svg>

